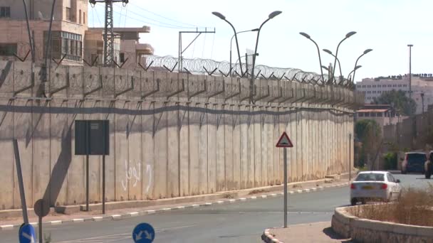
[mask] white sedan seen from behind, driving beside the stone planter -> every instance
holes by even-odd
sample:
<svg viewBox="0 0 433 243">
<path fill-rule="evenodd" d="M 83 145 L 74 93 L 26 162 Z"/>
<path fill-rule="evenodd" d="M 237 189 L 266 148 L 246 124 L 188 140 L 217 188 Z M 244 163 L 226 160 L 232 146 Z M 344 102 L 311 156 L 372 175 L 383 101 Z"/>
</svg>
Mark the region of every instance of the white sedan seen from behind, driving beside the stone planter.
<svg viewBox="0 0 433 243">
<path fill-rule="evenodd" d="M 357 202 L 365 204 L 368 200 L 382 200 L 390 202 L 398 200 L 402 187 L 400 180 L 396 180 L 387 171 L 362 171 L 358 173 L 350 184 L 350 204 Z"/>
</svg>

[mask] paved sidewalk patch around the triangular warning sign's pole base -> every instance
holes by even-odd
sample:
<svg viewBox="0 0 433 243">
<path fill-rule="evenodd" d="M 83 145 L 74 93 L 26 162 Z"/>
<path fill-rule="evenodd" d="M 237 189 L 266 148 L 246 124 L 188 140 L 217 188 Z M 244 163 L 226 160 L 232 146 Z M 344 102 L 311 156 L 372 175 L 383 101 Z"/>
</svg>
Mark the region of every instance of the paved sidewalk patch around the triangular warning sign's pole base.
<svg viewBox="0 0 433 243">
<path fill-rule="evenodd" d="M 330 227 L 330 222 L 314 222 L 302 225 L 288 225 L 284 228 L 266 229 L 261 237 L 264 242 L 335 243 L 352 242 L 343 239 Z"/>
</svg>

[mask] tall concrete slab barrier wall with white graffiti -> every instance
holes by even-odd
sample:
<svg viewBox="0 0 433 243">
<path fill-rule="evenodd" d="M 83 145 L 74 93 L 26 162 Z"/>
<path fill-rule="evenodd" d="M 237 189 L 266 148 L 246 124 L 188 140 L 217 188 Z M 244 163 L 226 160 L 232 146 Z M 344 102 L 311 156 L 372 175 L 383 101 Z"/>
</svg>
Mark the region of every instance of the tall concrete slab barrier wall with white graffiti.
<svg viewBox="0 0 433 243">
<path fill-rule="evenodd" d="M 256 80 L 254 98 L 261 99 L 249 104 L 240 101 L 249 92 L 244 79 L 58 66 L 46 99 L 35 98 L 39 69 L 32 86 L 28 63 L 0 61 L 0 209 L 20 207 L 13 138 L 29 207 L 39 198 L 51 205 L 85 202 L 85 156 L 74 155 L 77 119 L 110 121 L 108 201 L 279 185 L 283 151 L 275 144 L 283 131 L 294 144 L 288 148 L 291 182 L 348 171 L 353 161 L 347 142 L 355 97 L 337 87 L 315 87 L 325 94 L 318 97 L 303 92 L 311 85 Z M 267 85 L 283 87 L 283 97 L 274 88 L 267 94 Z M 291 90 L 293 98 L 279 104 Z M 102 158 L 90 156 L 90 202 L 102 200 L 101 168 Z"/>
</svg>

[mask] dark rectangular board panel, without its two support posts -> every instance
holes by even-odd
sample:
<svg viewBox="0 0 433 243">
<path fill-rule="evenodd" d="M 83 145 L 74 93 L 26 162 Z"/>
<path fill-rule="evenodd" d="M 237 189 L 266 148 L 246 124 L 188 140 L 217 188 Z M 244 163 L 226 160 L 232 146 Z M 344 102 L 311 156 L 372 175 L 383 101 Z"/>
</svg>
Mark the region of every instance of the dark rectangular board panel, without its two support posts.
<svg viewBox="0 0 433 243">
<path fill-rule="evenodd" d="M 75 155 L 109 155 L 108 120 L 75 121 Z"/>
</svg>

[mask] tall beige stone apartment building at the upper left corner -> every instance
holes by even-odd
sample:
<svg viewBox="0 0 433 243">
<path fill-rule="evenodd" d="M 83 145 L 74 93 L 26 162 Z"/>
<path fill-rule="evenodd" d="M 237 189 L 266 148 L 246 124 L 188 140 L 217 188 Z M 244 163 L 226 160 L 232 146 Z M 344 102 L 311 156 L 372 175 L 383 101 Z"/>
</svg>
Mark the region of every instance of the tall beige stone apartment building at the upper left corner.
<svg viewBox="0 0 433 243">
<path fill-rule="evenodd" d="M 35 43 L 36 62 L 45 55 L 52 0 L 26 0 L 29 25 Z M 53 14 L 52 58 L 63 59 L 63 64 L 82 65 L 83 37 L 87 30 L 88 1 L 57 0 Z M 0 2 L 1 59 L 24 58 L 30 50 L 26 15 L 22 1 Z M 28 56 L 28 60 L 30 55 Z"/>
</svg>

